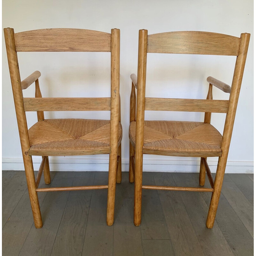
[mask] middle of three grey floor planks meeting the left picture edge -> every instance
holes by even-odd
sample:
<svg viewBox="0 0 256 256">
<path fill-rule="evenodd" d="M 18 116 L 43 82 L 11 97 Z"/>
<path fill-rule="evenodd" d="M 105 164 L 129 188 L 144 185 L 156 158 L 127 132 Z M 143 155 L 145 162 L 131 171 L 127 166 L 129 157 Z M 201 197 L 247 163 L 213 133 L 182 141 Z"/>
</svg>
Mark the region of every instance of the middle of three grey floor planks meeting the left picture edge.
<svg viewBox="0 0 256 256">
<path fill-rule="evenodd" d="M 2 228 L 27 189 L 24 171 L 18 171 L 2 192 Z"/>
</svg>

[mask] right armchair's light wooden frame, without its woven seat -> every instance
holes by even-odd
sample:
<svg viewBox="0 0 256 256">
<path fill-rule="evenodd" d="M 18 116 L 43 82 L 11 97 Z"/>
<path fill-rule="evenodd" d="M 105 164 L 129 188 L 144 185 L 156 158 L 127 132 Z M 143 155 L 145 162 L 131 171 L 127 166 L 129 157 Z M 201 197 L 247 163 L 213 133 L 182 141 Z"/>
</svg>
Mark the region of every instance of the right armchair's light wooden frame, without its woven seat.
<svg viewBox="0 0 256 256">
<path fill-rule="evenodd" d="M 131 75 L 132 90 L 130 96 L 130 122 L 136 121 L 136 144 L 130 137 L 130 165 L 129 180 L 134 181 L 134 224 L 139 226 L 141 222 L 141 198 L 142 188 L 180 191 L 207 191 L 212 192 L 206 227 L 212 228 L 217 212 L 222 182 L 227 164 L 228 151 L 236 115 L 236 107 L 241 88 L 245 60 L 250 40 L 250 34 L 242 33 L 241 37 L 228 36 L 210 32 L 180 31 L 148 35 L 148 30 L 139 30 L 138 50 L 138 79 Z M 236 57 L 235 71 L 232 86 L 225 84 L 213 77 L 208 77 L 209 90 L 206 100 L 192 99 L 159 99 L 145 98 L 147 53 L 181 53 L 181 54 L 211 54 L 230 55 Z M 212 100 L 212 85 L 223 92 L 230 93 L 229 100 Z M 135 94 L 137 89 L 137 99 Z M 137 105 L 136 105 L 137 101 Z M 204 123 L 211 122 L 211 113 L 226 113 L 226 120 L 221 142 L 221 152 L 213 154 L 184 153 L 177 151 L 160 151 L 143 149 L 144 139 L 144 115 L 145 110 L 167 111 L 193 111 L 205 112 Z M 187 188 L 142 186 L 143 154 L 167 155 L 167 156 L 193 156 L 201 157 L 199 184 L 204 186 L 205 172 L 209 178 L 211 188 Z M 208 156 L 219 156 L 215 180 L 212 178 L 207 164 Z"/>
</svg>

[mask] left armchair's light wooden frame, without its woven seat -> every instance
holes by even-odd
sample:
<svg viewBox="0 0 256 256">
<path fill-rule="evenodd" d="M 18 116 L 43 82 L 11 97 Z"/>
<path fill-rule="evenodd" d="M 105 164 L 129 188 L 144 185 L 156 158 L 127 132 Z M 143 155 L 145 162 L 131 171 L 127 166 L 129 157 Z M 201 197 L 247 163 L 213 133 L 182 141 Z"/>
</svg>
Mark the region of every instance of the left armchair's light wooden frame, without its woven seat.
<svg viewBox="0 0 256 256">
<path fill-rule="evenodd" d="M 13 28 L 4 28 L 7 59 L 11 76 L 12 92 L 20 134 L 28 193 L 36 228 L 43 226 L 37 192 L 66 191 L 108 188 L 107 225 L 114 222 L 116 182 L 121 183 L 121 139 L 118 141 L 120 115 L 120 30 L 111 29 L 111 34 L 86 29 L 54 28 L 31 30 L 14 34 Z M 110 98 L 42 98 L 35 71 L 21 81 L 17 52 L 111 52 L 111 97 Z M 35 98 L 23 98 L 22 90 L 35 82 Z M 50 108 L 48 104 L 51 104 Z M 95 150 L 72 150 L 46 152 L 30 150 L 25 111 L 37 111 L 38 121 L 44 120 L 43 111 L 91 111 L 110 110 L 110 148 Z M 118 146 L 119 145 L 119 146 Z M 48 156 L 109 154 L 108 185 L 60 188 L 38 188 L 44 171 L 45 184 L 51 183 Z M 42 156 L 35 179 L 32 155 Z"/>
</svg>

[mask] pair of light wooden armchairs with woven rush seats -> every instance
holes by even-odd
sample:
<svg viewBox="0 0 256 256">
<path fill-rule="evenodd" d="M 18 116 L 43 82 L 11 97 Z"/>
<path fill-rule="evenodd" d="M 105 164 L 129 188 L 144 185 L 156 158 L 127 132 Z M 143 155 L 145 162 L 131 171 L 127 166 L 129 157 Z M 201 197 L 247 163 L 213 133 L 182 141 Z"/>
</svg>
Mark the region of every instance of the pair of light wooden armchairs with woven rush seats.
<svg viewBox="0 0 256 256">
<path fill-rule="evenodd" d="M 42 227 L 37 192 L 108 188 L 107 224 L 114 222 L 116 182 L 121 182 L 120 117 L 120 30 L 111 34 L 85 29 L 41 29 L 14 33 L 4 29 L 7 58 L 28 192 L 36 228 Z M 140 225 L 141 195 L 144 189 L 209 191 L 212 200 L 206 222 L 212 228 L 218 207 L 228 150 L 235 120 L 250 34 L 241 37 L 209 32 L 168 32 L 148 35 L 139 31 L 138 79 L 131 75 L 130 97 L 130 166 L 129 180 L 134 181 L 134 224 Z M 42 98 L 39 71 L 21 81 L 17 52 L 111 52 L 110 98 Z M 232 86 L 208 77 L 206 100 L 146 98 L 147 53 L 180 53 L 231 55 L 236 57 Z M 35 98 L 23 98 L 22 90 L 35 82 Z M 229 100 L 213 100 L 212 85 L 230 93 Z M 137 97 L 135 88 L 137 89 Z M 44 119 L 43 111 L 110 110 L 110 120 Z M 145 110 L 205 112 L 204 122 L 145 121 Z M 37 111 L 38 122 L 27 127 L 26 111 Z M 211 113 L 226 113 L 223 135 L 211 124 Z M 45 184 L 50 184 L 48 156 L 109 154 L 108 185 L 38 188 L 42 173 Z M 204 186 L 205 173 L 211 188 L 142 186 L 143 154 L 201 157 L 199 184 Z M 42 156 L 35 179 L 32 156 Z M 206 158 L 218 156 L 215 180 Z"/>
</svg>

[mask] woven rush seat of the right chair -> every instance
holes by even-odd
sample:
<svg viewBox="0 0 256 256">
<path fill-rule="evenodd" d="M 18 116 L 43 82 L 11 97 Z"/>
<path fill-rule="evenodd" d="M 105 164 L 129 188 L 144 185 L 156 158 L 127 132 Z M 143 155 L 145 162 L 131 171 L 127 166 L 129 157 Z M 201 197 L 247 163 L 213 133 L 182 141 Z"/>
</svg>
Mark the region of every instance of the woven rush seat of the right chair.
<svg viewBox="0 0 256 256">
<path fill-rule="evenodd" d="M 129 137 L 135 145 L 136 122 L 131 122 Z M 144 121 L 143 153 L 173 152 L 173 156 L 221 156 L 222 136 L 211 124 L 185 121 Z"/>
</svg>

